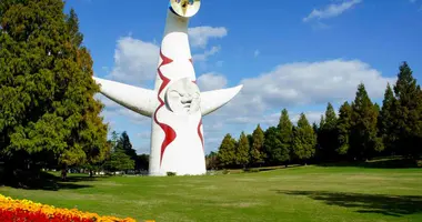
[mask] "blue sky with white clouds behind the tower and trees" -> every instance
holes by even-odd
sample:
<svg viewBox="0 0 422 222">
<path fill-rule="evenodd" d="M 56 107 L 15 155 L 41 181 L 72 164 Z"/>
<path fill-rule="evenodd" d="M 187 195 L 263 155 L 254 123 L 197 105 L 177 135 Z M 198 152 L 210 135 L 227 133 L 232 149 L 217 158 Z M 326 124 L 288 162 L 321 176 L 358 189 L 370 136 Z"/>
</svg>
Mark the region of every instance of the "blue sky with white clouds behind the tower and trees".
<svg viewBox="0 0 422 222">
<path fill-rule="evenodd" d="M 326 102 L 352 100 L 360 82 L 381 102 L 402 61 L 422 79 L 422 0 L 245 2 L 202 0 L 190 21 L 200 89 L 244 84 L 204 118 L 207 153 L 225 133 L 275 125 L 283 108 L 292 121 L 300 112 L 318 121 Z M 152 89 L 168 3 L 68 0 L 66 8 L 79 16 L 97 77 Z M 151 120 L 98 98 L 111 130 L 127 131 L 134 149 L 148 153 Z"/>
</svg>

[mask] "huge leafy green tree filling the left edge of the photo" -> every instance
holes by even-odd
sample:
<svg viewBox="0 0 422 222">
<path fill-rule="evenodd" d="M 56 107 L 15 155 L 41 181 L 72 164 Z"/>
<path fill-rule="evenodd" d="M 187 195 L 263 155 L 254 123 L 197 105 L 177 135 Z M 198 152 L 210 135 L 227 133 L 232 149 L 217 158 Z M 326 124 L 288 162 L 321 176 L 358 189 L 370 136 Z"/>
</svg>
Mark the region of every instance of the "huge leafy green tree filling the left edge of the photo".
<svg viewBox="0 0 422 222">
<path fill-rule="evenodd" d="M 0 3 L 0 147 L 9 170 L 98 162 L 107 125 L 74 11 L 60 0 Z"/>
</svg>

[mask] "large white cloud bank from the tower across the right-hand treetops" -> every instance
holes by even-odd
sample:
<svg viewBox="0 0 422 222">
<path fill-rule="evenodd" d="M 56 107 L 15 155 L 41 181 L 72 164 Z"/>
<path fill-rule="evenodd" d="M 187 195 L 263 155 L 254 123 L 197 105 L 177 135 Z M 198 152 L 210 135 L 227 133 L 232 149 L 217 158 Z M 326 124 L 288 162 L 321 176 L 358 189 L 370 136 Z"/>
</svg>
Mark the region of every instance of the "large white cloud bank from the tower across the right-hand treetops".
<svg viewBox="0 0 422 222">
<path fill-rule="evenodd" d="M 221 131 L 204 127 L 205 149 L 215 150 L 225 133 L 238 137 L 241 131 L 251 133 L 258 123 L 263 129 L 277 125 L 281 110 L 287 108 L 295 123 L 304 112 L 310 123 L 319 123 L 328 102 L 334 108 L 352 101 L 356 87 L 363 82 L 372 99 L 383 97 L 386 78 L 368 63 L 359 60 L 328 60 L 280 64 L 272 71 L 241 81 L 243 89 L 232 101 L 204 118 L 204 125 L 222 122 Z M 315 109 L 314 105 L 321 107 Z M 307 110 L 312 108 L 312 110 Z M 338 109 L 338 108 L 335 108 Z M 207 138 L 212 138 L 212 142 Z"/>
</svg>

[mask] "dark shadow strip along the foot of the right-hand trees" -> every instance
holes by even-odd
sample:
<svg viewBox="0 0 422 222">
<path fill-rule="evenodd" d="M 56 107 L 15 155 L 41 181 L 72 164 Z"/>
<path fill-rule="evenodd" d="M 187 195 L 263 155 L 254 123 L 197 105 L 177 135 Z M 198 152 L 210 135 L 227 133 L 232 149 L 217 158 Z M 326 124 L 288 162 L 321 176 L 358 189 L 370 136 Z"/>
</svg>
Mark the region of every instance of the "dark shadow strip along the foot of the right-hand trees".
<svg viewBox="0 0 422 222">
<path fill-rule="evenodd" d="M 356 167 L 356 168 L 374 168 L 374 169 L 404 169 L 404 168 L 421 168 L 418 161 L 403 158 L 379 159 L 361 162 L 334 162 L 321 163 L 320 167 Z"/>
</svg>

